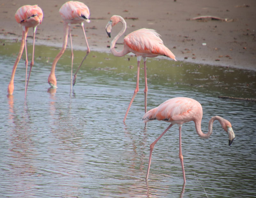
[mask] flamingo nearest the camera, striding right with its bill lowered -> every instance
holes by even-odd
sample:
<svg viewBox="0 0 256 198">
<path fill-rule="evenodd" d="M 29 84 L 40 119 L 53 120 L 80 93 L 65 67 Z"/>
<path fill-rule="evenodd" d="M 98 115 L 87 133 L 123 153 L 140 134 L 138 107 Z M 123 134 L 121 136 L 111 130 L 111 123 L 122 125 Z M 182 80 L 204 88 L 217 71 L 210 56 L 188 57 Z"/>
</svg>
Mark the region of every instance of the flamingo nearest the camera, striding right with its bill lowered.
<svg viewBox="0 0 256 198">
<path fill-rule="evenodd" d="M 144 123 L 150 122 L 152 120 L 163 120 L 165 122 L 171 123 L 167 129 L 150 145 L 150 153 L 149 153 L 149 162 L 148 162 L 148 171 L 146 180 L 148 180 L 149 168 L 152 158 L 153 148 L 156 142 L 164 135 L 166 131 L 168 131 L 172 125 L 178 124 L 179 126 L 179 141 L 180 141 L 180 162 L 183 173 L 183 180 L 186 183 L 185 170 L 183 165 L 183 156 L 181 153 L 181 126 L 183 123 L 187 123 L 190 121 L 194 121 L 196 127 L 196 133 L 200 138 L 207 139 L 212 135 L 212 124 L 214 120 L 218 120 L 224 129 L 224 131 L 228 132 L 229 146 L 232 144 L 235 134 L 231 127 L 231 123 L 228 120 L 220 116 L 213 116 L 209 121 L 209 131 L 208 133 L 203 133 L 201 131 L 201 121 L 203 117 L 203 109 L 199 102 L 191 98 L 172 98 L 166 100 L 161 105 L 156 108 L 149 110 L 145 115 L 143 115 L 142 120 Z"/>
</svg>

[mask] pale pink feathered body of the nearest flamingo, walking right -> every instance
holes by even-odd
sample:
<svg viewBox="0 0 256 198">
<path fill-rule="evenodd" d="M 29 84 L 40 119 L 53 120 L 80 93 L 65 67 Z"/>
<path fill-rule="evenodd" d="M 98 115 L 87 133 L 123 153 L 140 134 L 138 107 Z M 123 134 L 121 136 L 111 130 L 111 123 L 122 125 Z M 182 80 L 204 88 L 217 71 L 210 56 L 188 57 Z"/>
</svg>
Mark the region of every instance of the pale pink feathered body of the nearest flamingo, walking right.
<svg viewBox="0 0 256 198">
<path fill-rule="evenodd" d="M 198 111 L 199 108 L 199 111 Z M 149 110 L 143 117 L 144 122 L 163 120 L 171 123 L 186 123 L 194 119 L 202 106 L 190 98 L 172 98 L 166 100 L 158 107 Z"/>
</svg>

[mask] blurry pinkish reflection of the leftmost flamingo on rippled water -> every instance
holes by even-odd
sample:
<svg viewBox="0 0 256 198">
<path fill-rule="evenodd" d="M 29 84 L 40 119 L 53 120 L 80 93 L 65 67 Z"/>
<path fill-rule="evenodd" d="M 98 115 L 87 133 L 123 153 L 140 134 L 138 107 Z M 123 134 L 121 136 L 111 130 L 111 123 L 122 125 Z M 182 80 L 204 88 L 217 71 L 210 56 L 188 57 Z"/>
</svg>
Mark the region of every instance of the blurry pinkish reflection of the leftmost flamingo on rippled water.
<svg viewBox="0 0 256 198">
<path fill-rule="evenodd" d="M 9 156 L 13 162 L 9 163 L 7 168 L 11 172 L 13 182 L 13 188 L 17 191 L 25 191 L 27 196 L 33 196 L 33 192 L 26 191 L 24 185 L 33 188 L 36 186 L 34 181 L 24 180 L 30 176 L 40 176 L 37 174 L 37 167 L 33 163 L 34 159 L 37 158 L 35 152 L 35 142 L 33 141 L 33 133 L 30 132 L 28 127 L 29 122 L 29 111 L 26 103 L 24 105 L 24 114 L 18 115 L 15 108 L 13 95 L 8 95 L 9 105 L 9 120 L 13 123 L 13 128 L 8 132 L 9 135 Z M 36 132 L 36 131 L 34 131 Z M 7 160 L 2 158 L 2 160 Z"/>
</svg>

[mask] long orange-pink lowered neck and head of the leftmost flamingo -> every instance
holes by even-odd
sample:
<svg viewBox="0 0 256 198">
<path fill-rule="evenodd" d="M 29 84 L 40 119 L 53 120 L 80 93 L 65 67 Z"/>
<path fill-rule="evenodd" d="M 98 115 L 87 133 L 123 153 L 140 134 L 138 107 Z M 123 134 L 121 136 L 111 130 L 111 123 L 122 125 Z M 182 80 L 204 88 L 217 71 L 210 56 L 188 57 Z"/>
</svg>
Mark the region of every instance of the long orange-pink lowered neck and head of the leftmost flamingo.
<svg viewBox="0 0 256 198">
<path fill-rule="evenodd" d="M 18 53 L 18 56 L 17 56 L 17 59 L 16 59 L 14 65 L 13 65 L 11 80 L 10 80 L 10 83 L 9 83 L 8 89 L 7 89 L 9 95 L 12 95 L 13 90 L 14 90 L 14 85 L 13 85 L 14 75 L 15 75 L 15 71 L 16 71 L 17 65 L 18 65 L 18 63 L 20 61 L 21 55 L 22 55 L 23 50 L 24 50 L 24 46 L 25 46 L 24 37 L 25 37 L 25 31 L 23 30 L 22 31 L 21 44 L 20 44 L 20 51 Z"/>
</svg>

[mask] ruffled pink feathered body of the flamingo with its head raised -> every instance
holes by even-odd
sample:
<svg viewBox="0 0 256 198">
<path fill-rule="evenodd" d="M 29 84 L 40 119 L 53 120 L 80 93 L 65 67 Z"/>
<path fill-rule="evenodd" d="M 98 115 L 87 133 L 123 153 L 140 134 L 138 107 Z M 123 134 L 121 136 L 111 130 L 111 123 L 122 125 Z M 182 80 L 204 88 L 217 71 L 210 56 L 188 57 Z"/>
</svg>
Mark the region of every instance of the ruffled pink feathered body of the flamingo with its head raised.
<svg viewBox="0 0 256 198">
<path fill-rule="evenodd" d="M 124 43 L 138 55 L 163 55 L 176 60 L 174 54 L 164 46 L 160 35 L 153 29 L 136 30 L 124 37 Z"/>
</svg>

